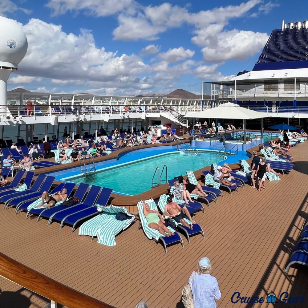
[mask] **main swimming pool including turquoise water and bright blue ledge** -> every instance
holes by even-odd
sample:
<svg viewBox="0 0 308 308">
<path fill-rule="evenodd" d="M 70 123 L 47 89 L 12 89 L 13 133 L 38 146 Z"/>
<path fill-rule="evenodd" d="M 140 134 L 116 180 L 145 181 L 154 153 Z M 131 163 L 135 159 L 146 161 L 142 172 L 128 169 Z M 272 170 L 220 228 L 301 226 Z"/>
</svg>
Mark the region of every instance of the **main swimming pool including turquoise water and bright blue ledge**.
<svg viewBox="0 0 308 308">
<path fill-rule="evenodd" d="M 164 165 L 168 168 L 168 179 L 175 176 L 185 175 L 188 170 L 198 170 L 213 163 L 222 161 L 224 158 L 214 152 L 205 152 L 198 155 L 184 154 L 176 148 L 166 148 L 164 150 L 148 150 L 138 153 L 134 151 L 120 157 L 112 163 L 97 165 L 97 172 L 91 175 L 80 175 L 80 169 L 59 172 L 57 180 L 64 180 L 73 183 L 87 183 L 102 187 L 113 188 L 115 193 L 136 195 L 151 189 L 151 181 L 156 167 L 162 170 Z M 229 156 L 230 163 L 239 159 L 248 159 L 244 155 Z M 161 177 L 165 178 L 165 175 Z M 154 182 L 157 182 L 154 181 Z"/>
</svg>

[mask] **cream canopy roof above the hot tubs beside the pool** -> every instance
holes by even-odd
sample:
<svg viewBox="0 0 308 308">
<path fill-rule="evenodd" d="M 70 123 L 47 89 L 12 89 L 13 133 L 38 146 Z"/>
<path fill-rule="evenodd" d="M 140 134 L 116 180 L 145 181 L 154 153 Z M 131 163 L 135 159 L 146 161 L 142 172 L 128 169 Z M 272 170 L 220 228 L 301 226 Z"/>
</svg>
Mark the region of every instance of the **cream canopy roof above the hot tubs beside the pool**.
<svg viewBox="0 0 308 308">
<path fill-rule="evenodd" d="M 270 115 L 264 112 L 250 110 L 233 103 L 221 104 L 217 107 L 198 111 L 188 112 L 187 118 L 210 118 L 210 119 L 234 119 L 234 120 L 253 120 L 269 118 Z"/>
</svg>

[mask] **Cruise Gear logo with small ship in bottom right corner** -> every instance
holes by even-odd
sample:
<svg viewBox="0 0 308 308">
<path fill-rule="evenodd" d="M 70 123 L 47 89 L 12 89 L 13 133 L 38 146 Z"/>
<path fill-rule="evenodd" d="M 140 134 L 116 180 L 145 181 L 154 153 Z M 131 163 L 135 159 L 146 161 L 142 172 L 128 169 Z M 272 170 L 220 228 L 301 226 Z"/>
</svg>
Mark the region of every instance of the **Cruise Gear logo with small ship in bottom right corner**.
<svg viewBox="0 0 308 308">
<path fill-rule="evenodd" d="M 267 294 L 266 298 L 257 297 L 257 296 L 241 296 L 240 292 L 234 292 L 231 296 L 231 302 L 236 303 L 245 303 L 245 304 L 257 304 L 263 302 L 269 303 L 285 303 L 285 304 L 297 304 L 303 303 L 305 301 L 305 296 L 290 296 L 288 292 L 282 292 L 278 297 L 273 291 Z"/>
</svg>

